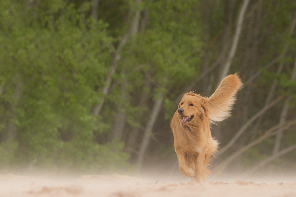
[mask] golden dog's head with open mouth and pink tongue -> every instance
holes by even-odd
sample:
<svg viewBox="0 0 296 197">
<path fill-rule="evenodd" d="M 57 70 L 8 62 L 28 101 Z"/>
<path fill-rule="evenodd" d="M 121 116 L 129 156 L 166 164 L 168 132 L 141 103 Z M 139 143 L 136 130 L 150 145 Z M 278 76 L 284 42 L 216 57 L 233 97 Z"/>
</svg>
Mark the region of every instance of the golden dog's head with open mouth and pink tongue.
<svg viewBox="0 0 296 197">
<path fill-rule="evenodd" d="M 201 95 L 188 92 L 178 105 L 178 115 L 182 124 L 203 120 L 207 114 L 207 100 Z"/>
</svg>

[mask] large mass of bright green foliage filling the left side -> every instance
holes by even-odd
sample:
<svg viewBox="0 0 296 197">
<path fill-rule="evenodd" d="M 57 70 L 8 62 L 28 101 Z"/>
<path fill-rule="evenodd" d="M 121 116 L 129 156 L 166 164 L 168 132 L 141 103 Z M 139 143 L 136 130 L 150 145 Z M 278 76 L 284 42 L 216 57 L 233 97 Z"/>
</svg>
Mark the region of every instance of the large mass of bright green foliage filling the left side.
<svg viewBox="0 0 296 197">
<path fill-rule="evenodd" d="M 101 97 L 114 39 L 106 24 L 86 16 L 90 5 L 40 1 L 26 11 L 25 2 L 0 2 L 2 139 L 9 135 L 7 121 L 16 127 L 10 131 L 16 141 L 1 143 L 1 166 L 127 167 L 123 143 L 94 140 L 107 128 L 91 110 Z"/>
</svg>

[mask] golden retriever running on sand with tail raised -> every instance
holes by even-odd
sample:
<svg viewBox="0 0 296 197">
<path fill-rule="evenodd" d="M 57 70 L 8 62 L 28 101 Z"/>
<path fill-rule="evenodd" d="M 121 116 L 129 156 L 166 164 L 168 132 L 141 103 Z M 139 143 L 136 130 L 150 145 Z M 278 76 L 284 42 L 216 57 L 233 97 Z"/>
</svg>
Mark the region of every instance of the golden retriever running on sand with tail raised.
<svg viewBox="0 0 296 197">
<path fill-rule="evenodd" d="M 222 121 L 230 115 L 242 82 L 236 74 L 226 76 L 209 98 L 188 92 L 181 99 L 170 127 L 173 131 L 179 170 L 192 182 L 207 180 L 211 155 L 218 141 L 212 138 L 210 120 Z"/>
</svg>

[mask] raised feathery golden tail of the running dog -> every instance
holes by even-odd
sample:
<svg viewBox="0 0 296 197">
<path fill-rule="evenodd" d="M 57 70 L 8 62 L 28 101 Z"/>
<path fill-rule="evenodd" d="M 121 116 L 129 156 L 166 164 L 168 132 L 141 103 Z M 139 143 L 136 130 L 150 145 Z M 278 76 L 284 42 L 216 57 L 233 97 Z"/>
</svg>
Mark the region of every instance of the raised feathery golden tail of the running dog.
<svg viewBox="0 0 296 197">
<path fill-rule="evenodd" d="M 212 121 L 223 121 L 230 116 L 230 110 L 236 100 L 236 94 L 243 86 L 241 79 L 236 74 L 226 76 L 208 98 L 207 108 Z"/>
</svg>

